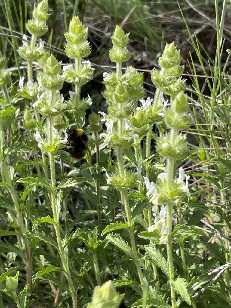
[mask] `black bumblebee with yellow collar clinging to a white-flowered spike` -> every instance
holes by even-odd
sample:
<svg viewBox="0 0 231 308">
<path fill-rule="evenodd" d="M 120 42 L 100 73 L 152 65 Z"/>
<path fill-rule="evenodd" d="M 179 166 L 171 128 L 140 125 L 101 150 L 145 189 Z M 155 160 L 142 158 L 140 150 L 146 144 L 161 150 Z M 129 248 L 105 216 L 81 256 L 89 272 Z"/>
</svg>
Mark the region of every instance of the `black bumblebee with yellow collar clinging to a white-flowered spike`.
<svg viewBox="0 0 231 308">
<path fill-rule="evenodd" d="M 63 148 L 64 151 L 70 153 L 70 156 L 74 159 L 81 160 L 84 155 L 91 152 L 88 148 L 88 137 L 87 134 L 81 129 L 71 129 L 67 133 L 67 143 L 66 146 L 70 146 L 70 148 Z"/>
</svg>

